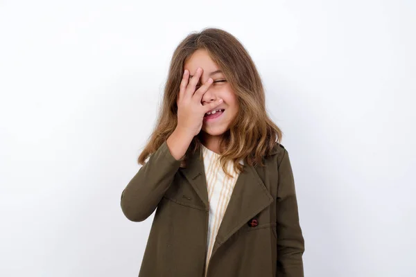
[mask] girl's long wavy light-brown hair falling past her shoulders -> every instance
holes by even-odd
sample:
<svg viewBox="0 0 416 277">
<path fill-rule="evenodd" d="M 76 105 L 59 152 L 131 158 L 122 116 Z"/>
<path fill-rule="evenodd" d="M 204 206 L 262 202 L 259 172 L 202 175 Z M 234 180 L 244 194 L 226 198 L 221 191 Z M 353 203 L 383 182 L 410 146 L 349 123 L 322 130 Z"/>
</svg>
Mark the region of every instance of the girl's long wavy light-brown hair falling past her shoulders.
<svg viewBox="0 0 416 277">
<path fill-rule="evenodd" d="M 239 112 L 227 132 L 220 140 L 220 163 L 228 176 L 226 163 L 234 162 L 234 168 L 241 172 L 241 159 L 252 166 L 263 166 L 263 157 L 281 141 L 281 130 L 266 112 L 266 99 L 260 75 L 248 51 L 236 37 L 218 28 L 205 28 L 185 37 L 173 53 L 164 88 L 162 109 L 153 134 L 139 155 L 139 163 L 155 152 L 173 133 L 177 125 L 177 93 L 184 71 L 184 63 L 198 49 L 205 49 L 212 60 L 223 70 L 227 82 L 236 94 Z M 199 134 L 193 137 L 191 145 L 182 160 L 186 166 L 187 157 L 200 149 Z"/>
</svg>

